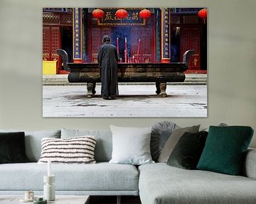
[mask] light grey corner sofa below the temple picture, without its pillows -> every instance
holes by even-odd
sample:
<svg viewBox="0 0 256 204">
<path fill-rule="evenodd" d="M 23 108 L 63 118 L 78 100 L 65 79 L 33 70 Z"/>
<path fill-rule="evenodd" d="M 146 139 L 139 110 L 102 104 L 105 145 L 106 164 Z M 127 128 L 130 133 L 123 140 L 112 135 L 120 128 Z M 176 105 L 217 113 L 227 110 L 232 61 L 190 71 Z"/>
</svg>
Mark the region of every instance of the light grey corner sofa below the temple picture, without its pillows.
<svg viewBox="0 0 256 204">
<path fill-rule="evenodd" d="M 0 132 L 10 130 L 0 130 Z M 134 166 L 109 164 L 112 133 L 108 130 L 25 131 L 29 163 L 0 164 L 0 195 L 43 194 L 47 164 L 38 164 L 43 137 L 95 135 L 97 164 L 53 164 L 56 194 L 139 196 L 142 204 L 256 203 L 256 149 L 248 149 L 244 176 L 185 170 L 165 163 Z"/>
</svg>

